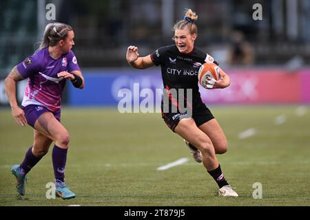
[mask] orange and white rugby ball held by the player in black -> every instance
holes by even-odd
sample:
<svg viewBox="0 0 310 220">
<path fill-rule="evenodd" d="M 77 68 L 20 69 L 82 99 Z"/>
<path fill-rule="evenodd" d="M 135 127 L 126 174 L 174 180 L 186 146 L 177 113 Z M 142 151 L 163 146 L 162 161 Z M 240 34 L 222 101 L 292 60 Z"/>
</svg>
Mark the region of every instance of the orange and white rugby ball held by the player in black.
<svg viewBox="0 0 310 220">
<path fill-rule="evenodd" d="M 207 89 L 207 80 L 218 80 L 220 78 L 220 67 L 215 63 L 204 63 L 200 66 L 198 71 L 199 84 Z"/>
</svg>

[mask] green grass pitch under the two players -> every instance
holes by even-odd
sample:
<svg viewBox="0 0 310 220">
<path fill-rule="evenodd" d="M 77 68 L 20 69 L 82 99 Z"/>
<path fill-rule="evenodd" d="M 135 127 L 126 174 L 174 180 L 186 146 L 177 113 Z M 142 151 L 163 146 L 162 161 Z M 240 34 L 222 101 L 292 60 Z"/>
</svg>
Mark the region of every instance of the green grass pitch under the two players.
<svg viewBox="0 0 310 220">
<path fill-rule="evenodd" d="M 26 195 L 17 197 L 10 173 L 32 145 L 30 126 L 15 124 L 10 109 L 0 110 L 0 206 L 309 206 L 310 107 L 211 106 L 229 141 L 218 155 L 238 198 L 216 196 L 216 183 L 194 162 L 178 135 L 158 113 L 118 113 L 117 109 L 63 108 L 70 133 L 65 180 L 75 199 L 47 199 L 54 181 L 51 151 L 28 174 Z M 282 124 L 276 118 L 282 115 Z M 284 120 L 283 120 L 284 119 Z M 240 132 L 256 133 L 239 139 Z M 52 146 L 51 146 L 52 148 Z M 156 168 L 180 158 L 180 166 Z M 254 199 L 253 184 L 262 184 Z"/>
</svg>

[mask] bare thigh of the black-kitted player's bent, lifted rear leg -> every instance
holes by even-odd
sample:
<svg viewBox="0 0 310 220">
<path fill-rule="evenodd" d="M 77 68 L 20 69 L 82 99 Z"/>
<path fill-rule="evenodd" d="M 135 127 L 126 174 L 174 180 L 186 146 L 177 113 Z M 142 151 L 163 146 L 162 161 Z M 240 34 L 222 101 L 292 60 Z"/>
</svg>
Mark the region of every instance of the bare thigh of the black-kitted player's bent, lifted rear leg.
<svg viewBox="0 0 310 220">
<path fill-rule="evenodd" d="M 216 153 L 225 153 L 227 151 L 227 138 L 215 118 L 201 124 L 199 129 L 210 137 Z"/>
</svg>

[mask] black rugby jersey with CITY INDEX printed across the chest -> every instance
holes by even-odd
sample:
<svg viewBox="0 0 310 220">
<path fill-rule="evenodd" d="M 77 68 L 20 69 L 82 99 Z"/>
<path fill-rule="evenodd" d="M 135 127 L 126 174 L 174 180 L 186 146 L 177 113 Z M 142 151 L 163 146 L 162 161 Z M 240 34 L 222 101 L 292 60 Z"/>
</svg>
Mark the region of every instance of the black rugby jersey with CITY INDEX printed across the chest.
<svg viewBox="0 0 310 220">
<path fill-rule="evenodd" d="M 151 54 L 151 58 L 156 66 L 161 65 L 164 88 L 177 91 L 185 89 L 185 93 L 186 89 L 192 89 L 193 111 L 199 107 L 205 107 L 199 93 L 198 70 L 203 63 L 216 63 L 214 58 L 196 47 L 189 54 L 182 54 L 176 45 L 158 48 Z"/>
</svg>

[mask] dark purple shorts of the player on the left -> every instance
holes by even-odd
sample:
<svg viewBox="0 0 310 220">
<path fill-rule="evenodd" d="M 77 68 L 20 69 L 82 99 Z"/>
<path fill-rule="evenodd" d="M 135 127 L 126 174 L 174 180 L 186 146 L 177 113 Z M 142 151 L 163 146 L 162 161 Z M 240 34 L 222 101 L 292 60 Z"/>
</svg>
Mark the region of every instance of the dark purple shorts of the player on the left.
<svg viewBox="0 0 310 220">
<path fill-rule="evenodd" d="M 37 105 L 37 104 L 29 104 L 25 107 L 21 107 L 21 109 L 23 109 L 23 111 L 25 112 L 25 118 L 27 119 L 27 122 L 30 126 L 32 126 L 34 128 L 34 123 L 37 122 L 38 118 L 40 117 L 40 115 L 42 115 L 45 112 L 51 112 L 56 120 L 61 120 L 61 109 L 53 112 L 48 110 L 46 107 Z"/>
</svg>

